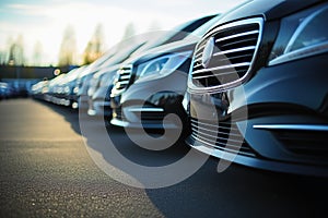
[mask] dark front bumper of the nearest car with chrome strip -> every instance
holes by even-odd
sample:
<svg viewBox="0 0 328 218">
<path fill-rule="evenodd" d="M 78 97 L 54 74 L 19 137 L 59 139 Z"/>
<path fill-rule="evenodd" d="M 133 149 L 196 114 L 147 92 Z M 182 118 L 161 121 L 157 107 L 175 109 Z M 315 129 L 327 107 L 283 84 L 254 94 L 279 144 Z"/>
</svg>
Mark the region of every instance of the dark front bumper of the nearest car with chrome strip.
<svg viewBox="0 0 328 218">
<path fill-rule="evenodd" d="M 230 90 L 189 93 L 187 143 L 258 169 L 327 177 L 327 58 L 262 68 Z"/>
</svg>

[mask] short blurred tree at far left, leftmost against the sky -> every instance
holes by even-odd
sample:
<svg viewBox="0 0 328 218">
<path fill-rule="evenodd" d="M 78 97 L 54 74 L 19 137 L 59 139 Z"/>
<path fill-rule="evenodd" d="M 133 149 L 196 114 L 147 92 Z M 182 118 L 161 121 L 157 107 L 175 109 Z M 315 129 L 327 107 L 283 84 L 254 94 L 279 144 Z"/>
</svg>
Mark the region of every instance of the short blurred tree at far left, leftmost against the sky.
<svg viewBox="0 0 328 218">
<path fill-rule="evenodd" d="M 23 65 L 24 64 L 23 35 L 19 35 L 16 40 L 14 40 L 10 44 L 8 64 L 10 64 L 10 65 Z"/>
</svg>

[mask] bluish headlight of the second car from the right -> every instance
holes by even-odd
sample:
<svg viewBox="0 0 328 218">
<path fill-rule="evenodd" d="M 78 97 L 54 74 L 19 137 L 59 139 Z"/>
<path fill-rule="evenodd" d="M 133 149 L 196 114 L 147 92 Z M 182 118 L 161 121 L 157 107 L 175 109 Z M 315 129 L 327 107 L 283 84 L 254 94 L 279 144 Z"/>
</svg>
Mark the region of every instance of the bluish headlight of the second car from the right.
<svg viewBox="0 0 328 218">
<path fill-rule="evenodd" d="M 166 76 L 178 69 L 188 58 L 192 51 L 185 51 L 179 53 L 172 53 L 162 56 L 137 66 L 137 82 L 151 81 Z"/>
</svg>

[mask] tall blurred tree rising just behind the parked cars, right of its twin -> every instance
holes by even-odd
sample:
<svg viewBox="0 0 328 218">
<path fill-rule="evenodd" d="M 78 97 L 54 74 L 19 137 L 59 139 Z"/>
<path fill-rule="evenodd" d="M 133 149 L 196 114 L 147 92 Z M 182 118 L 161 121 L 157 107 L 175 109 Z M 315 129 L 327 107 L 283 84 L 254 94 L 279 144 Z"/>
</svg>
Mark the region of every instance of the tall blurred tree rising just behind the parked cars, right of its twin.
<svg viewBox="0 0 328 218">
<path fill-rule="evenodd" d="M 89 64 L 99 58 L 104 52 L 104 29 L 102 24 L 97 24 L 95 32 L 86 45 L 83 52 L 83 64 Z"/>
</svg>

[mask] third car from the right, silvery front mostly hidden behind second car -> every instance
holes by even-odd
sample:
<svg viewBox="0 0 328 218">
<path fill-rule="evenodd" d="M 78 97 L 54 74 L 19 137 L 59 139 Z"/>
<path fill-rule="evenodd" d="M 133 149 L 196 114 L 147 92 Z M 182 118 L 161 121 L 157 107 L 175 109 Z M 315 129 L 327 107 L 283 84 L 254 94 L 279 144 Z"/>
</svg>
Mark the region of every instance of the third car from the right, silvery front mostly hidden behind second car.
<svg viewBox="0 0 328 218">
<path fill-rule="evenodd" d="M 137 60 L 138 57 L 144 55 L 148 50 L 151 50 L 155 47 L 167 45 L 174 41 L 178 41 L 180 39 L 186 38 L 190 33 L 195 32 L 202 24 L 207 23 L 215 15 L 207 15 L 202 17 L 197 17 L 178 26 L 174 27 L 169 32 L 151 32 L 141 34 L 138 36 L 133 36 L 128 40 L 121 41 L 117 47 L 116 61 L 117 64 L 105 64 L 106 68 L 103 68 L 97 73 L 94 74 L 93 78 L 90 80 L 91 86 L 87 89 L 89 95 L 89 110 L 87 113 L 90 116 L 104 116 L 106 124 L 109 123 L 112 119 L 112 108 L 110 108 L 110 93 L 114 87 L 113 80 L 116 75 L 116 72 L 119 70 L 121 65 L 128 63 L 128 65 Z M 131 45 L 137 41 L 142 41 L 142 46 L 138 47 L 138 49 L 129 50 Z M 125 58 L 122 58 L 125 57 Z M 121 72 L 121 71 L 120 71 Z M 103 75 L 107 74 L 107 75 Z M 121 77 L 126 80 L 125 77 Z M 106 80 L 106 81 L 103 81 Z M 117 92 L 117 90 L 116 90 Z"/>
</svg>

